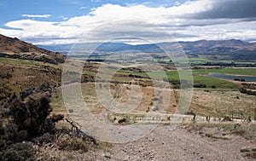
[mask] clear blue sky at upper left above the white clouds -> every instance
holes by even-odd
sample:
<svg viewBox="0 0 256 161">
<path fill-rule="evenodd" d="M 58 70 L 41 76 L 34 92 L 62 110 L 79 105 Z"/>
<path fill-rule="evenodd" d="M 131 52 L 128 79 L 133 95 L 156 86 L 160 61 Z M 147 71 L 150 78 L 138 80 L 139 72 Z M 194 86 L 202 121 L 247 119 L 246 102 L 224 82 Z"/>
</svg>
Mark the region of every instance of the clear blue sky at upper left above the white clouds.
<svg viewBox="0 0 256 161">
<path fill-rule="evenodd" d="M 185 2 L 185 1 L 179 1 Z M 22 14 L 44 15 L 49 14 L 47 20 L 61 21 L 79 15 L 89 14 L 91 9 L 102 6 L 103 4 L 119 4 L 129 6 L 143 4 L 148 7 L 172 6 L 177 1 L 163 0 L 160 2 L 150 2 L 147 0 L 1 0 L 0 15 L 1 26 L 6 27 L 5 23 L 11 20 L 27 19 Z M 32 20 L 44 20 L 44 18 L 31 18 Z"/>
</svg>

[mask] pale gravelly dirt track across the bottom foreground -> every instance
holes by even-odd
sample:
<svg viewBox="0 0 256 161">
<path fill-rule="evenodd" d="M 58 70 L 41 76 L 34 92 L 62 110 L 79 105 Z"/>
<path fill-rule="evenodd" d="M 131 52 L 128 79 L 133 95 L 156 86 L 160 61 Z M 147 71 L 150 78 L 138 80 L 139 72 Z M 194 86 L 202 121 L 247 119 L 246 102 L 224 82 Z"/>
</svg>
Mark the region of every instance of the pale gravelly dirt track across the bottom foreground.
<svg viewBox="0 0 256 161">
<path fill-rule="evenodd" d="M 215 129 L 218 130 L 218 129 Z M 86 160 L 224 160 L 243 161 L 243 147 L 256 147 L 256 142 L 247 141 L 237 135 L 228 140 L 212 139 L 189 132 L 183 128 L 170 129 L 160 126 L 145 137 L 125 144 L 114 144 L 108 152 L 87 152 L 81 156 Z"/>
</svg>

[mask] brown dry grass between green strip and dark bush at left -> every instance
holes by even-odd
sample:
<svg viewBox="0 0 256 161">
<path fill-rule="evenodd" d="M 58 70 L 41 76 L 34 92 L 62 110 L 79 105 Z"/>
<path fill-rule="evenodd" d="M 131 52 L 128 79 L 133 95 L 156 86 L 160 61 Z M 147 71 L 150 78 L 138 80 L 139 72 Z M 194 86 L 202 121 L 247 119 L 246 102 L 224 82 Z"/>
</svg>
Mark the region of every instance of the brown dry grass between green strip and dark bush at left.
<svg viewBox="0 0 256 161">
<path fill-rule="evenodd" d="M 61 70 L 47 64 L 19 65 L 19 63 L 12 64 L 12 61 L 10 63 L 9 61 L 0 61 L 0 68 L 0 76 L 10 76 L 9 78 L 0 78 L 0 84 L 4 84 L 16 94 L 21 89 L 37 89 L 42 83 L 56 84 L 61 81 Z"/>
</svg>

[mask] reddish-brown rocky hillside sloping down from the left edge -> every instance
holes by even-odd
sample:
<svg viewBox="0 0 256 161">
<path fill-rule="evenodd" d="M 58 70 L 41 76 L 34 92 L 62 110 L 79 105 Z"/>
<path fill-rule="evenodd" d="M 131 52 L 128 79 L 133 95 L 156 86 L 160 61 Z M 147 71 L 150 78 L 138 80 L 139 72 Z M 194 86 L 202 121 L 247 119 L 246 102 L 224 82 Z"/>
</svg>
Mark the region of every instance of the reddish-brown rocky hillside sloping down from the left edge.
<svg viewBox="0 0 256 161">
<path fill-rule="evenodd" d="M 20 41 L 18 38 L 5 37 L 0 34 L 0 57 L 37 60 L 52 64 L 62 63 L 65 56 L 38 48 L 32 43 Z"/>
</svg>

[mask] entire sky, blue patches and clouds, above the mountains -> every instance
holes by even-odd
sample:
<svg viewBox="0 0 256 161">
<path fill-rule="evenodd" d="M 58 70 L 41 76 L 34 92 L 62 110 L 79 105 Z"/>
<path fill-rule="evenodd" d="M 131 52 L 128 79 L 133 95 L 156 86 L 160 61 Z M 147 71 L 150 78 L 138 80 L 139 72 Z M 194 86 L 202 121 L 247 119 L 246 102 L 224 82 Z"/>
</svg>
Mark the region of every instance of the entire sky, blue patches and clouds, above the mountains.
<svg viewBox="0 0 256 161">
<path fill-rule="evenodd" d="M 256 42 L 256 0 L 0 0 L 0 16 L 0 34 L 33 44 Z"/>
</svg>

